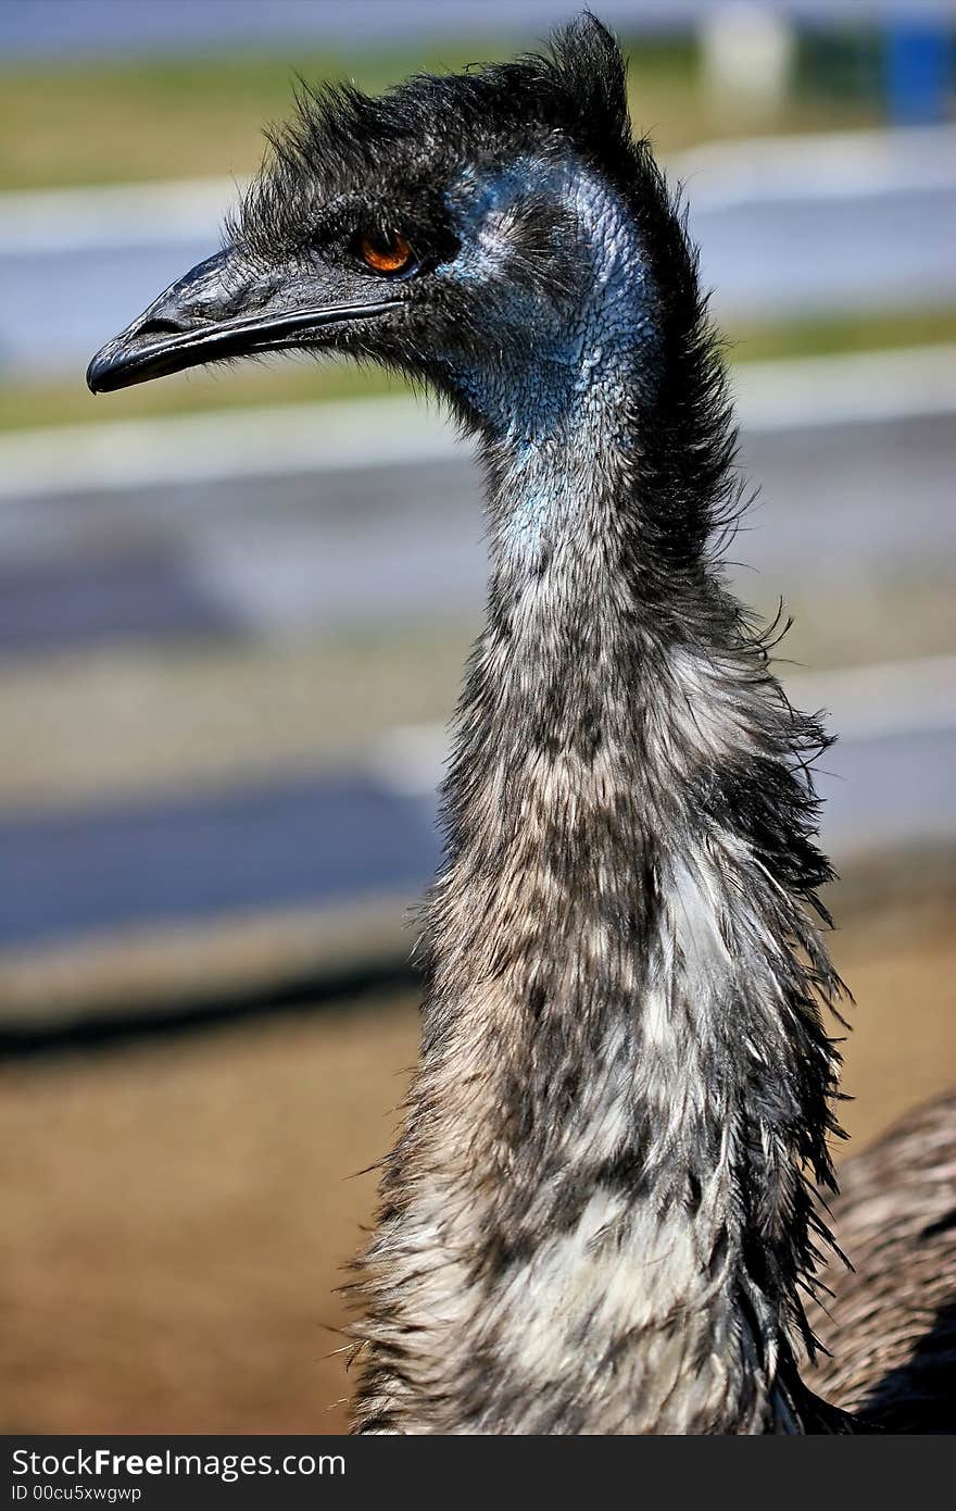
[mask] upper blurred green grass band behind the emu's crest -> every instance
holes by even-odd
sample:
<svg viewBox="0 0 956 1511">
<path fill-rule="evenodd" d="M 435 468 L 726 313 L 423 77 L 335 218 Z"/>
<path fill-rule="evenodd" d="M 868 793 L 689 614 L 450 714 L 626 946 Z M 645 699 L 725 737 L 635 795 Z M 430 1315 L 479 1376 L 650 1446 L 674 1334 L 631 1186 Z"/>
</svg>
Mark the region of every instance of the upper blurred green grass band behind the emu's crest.
<svg viewBox="0 0 956 1511">
<path fill-rule="evenodd" d="M 0 189 L 243 177 L 260 162 L 261 127 L 288 115 L 296 73 L 353 79 L 379 91 L 418 68 L 455 70 L 509 51 L 486 38 L 456 38 L 387 54 L 240 51 L 0 70 Z M 695 48 L 680 41 L 631 47 L 630 85 L 634 125 L 663 153 L 716 134 L 837 128 L 876 118 L 859 98 L 808 95 L 754 116 L 701 89 Z"/>
</svg>

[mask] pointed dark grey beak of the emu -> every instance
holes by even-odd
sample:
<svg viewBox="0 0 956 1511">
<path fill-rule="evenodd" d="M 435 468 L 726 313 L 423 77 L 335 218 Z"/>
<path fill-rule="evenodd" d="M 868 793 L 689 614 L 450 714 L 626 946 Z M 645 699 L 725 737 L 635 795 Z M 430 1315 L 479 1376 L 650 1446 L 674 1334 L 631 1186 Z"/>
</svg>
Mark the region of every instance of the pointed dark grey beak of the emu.
<svg viewBox="0 0 956 1511">
<path fill-rule="evenodd" d="M 308 304 L 295 280 L 249 277 L 230 246 L 171 284 L 139 319 L 103 346 L 89 367 L 91 393 L 112 393 L 224 357 L 301 346 L 310 331 L 397 310 L 399 299 Z M 314 299 L 314 287 L 311 290 Z"/>
</svg>

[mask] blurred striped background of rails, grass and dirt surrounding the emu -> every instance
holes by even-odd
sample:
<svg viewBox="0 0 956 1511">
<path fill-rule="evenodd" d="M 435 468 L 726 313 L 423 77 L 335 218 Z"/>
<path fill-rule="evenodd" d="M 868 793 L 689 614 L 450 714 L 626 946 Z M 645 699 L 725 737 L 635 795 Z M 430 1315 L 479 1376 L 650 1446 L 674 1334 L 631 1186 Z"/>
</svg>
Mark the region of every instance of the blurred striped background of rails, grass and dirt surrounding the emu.
<svg viewBox="0 0 956 1511">
<path fill-rule="evenodd" d="M 956 1079 L 956 9 L 594 0 L 729 341 L 740 594 L 825 707 L 861 1147 Z M 334 1287 L 415 1058 L 409 907 L 485 577 L 400 385 L 94 400 L 295 73 L 535 44 L 520 0 L 0 8 L 0 1425 L 337 1431 Z"/>
</svg>

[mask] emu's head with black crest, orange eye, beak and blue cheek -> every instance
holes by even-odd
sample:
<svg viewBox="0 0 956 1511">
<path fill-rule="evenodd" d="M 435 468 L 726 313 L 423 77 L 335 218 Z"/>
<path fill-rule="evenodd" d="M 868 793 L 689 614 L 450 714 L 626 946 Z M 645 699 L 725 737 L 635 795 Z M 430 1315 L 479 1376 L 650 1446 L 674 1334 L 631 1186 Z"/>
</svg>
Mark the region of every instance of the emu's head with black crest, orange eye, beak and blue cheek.
<svg viewBox="0 0 956 1511">
<path fill-rule="evenodd" d="M 654 169 L 594 18 L 548 57 L 298 106 L 224 251 L 94 357 L 94 393 L 334 351 L 424 378 L 473 425 L 527 428 L 568 403 L 589 352 L 607 360 L 646 328 L 630 199 Z"/>
</svg>

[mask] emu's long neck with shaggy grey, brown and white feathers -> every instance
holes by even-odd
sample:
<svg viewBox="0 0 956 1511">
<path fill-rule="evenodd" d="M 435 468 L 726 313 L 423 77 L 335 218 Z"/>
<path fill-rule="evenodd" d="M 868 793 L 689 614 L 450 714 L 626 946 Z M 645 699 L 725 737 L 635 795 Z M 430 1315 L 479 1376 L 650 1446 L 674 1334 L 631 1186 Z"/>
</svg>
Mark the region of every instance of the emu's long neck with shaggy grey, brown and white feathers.
<svg viewBox="0 0 956 1511">
<path fill-rule="evenodd" d="M 669 583 L 648 559 L 652 416 L 607 402 L 628 355 L 586 352 L 548 434 L 486 441 L 488 624 L 369 1256 L 369 1431 L 800 1429 L 834 1071 L 793 775 L 816 730 L 701 555 Z"/>
</svg>

